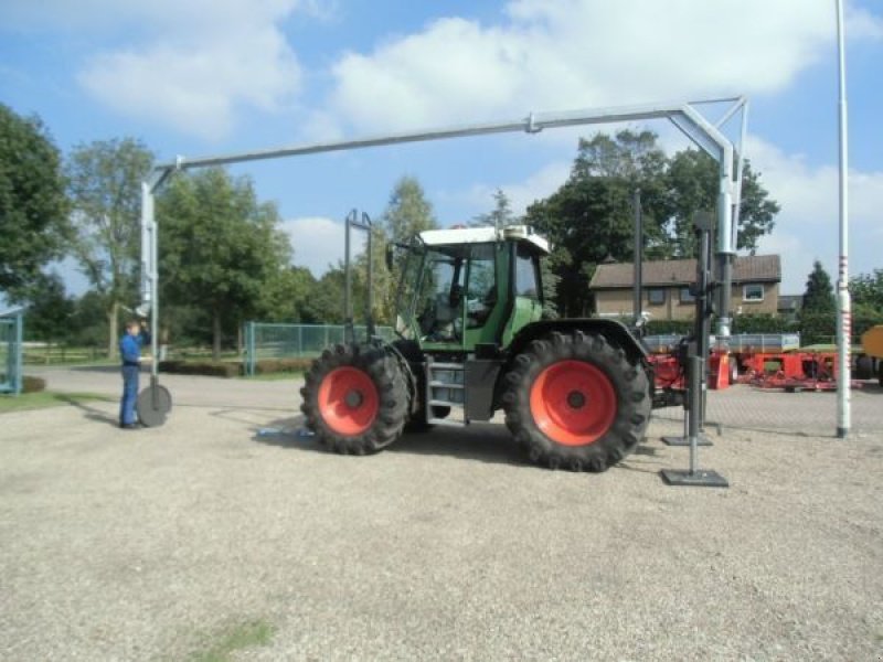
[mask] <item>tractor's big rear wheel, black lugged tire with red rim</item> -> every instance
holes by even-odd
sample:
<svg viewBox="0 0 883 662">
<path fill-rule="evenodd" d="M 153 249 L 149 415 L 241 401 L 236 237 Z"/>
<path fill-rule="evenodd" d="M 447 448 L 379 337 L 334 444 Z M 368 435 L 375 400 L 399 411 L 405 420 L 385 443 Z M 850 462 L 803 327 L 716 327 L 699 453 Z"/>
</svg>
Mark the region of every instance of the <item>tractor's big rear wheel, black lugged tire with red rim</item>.
<svg viewBox="0 0 883 662">
<path fill-rule="evenodd" d="M 504 378 L 507 427 L 551 469 L 605 471 L 635 449 L 650 420 L 647 372 L 600 334 L 534 340 Z"/>
</svg>

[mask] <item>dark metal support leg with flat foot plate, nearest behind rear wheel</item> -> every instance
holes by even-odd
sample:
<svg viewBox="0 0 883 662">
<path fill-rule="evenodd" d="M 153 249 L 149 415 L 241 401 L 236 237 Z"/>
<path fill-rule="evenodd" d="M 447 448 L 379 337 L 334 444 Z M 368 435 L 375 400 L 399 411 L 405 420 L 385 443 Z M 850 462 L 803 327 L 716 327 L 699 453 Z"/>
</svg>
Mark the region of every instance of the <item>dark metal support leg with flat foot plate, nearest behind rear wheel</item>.
<svg viewBox="0 0 883 662">
<path fill-rule="evenodd" d="M 699 239 L 699 256 L 696 259 L 696 319 L 695 340 L 690 343 L 688 359 L 688 398 L 684 403 L 684 437 L 667 437 L 662 441 L 669 446 L 690 447 L 690 468 L 687 471 L 663 469 L 660 471 L 662 480 L 670 485 L 693 485 L 705 488 L 728 488 L 726 479 L 711 469 L 698 468 L 698 448 L 711 446 L 712 442 L 702 434 L 705 418 L 705 394 L 708 389 L 706 364 L 709 355 L 709 327 L 712 314 L 711 290 L 711 214 L 696 214 L 695 233 Z"/>
</svg>

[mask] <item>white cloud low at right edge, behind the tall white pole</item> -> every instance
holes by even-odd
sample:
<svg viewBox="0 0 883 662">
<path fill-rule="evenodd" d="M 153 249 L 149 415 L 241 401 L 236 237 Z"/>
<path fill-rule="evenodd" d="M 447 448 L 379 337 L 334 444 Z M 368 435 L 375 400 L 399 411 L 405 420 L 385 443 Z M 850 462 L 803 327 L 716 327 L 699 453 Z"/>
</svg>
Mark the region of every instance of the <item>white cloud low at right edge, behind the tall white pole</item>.
<svg viewBox="0 0 883 662">
<path fill-rule="evenodd" d="M 820 259 L 837 280 L 839 253 L 838 169 L 813 168 L 800 154 L 786 154 L 777 147 L 749 138 L 747 154 L 762 173 L 772 199 L 781 204 L 773 234 L 760 239 L 760 252 L 783 258 L 783 290 L 801 293 L 812 260 Z M 869 273 L 883 266 L 883 171 L 849 175 L 850 274 Z"/>
</svg>

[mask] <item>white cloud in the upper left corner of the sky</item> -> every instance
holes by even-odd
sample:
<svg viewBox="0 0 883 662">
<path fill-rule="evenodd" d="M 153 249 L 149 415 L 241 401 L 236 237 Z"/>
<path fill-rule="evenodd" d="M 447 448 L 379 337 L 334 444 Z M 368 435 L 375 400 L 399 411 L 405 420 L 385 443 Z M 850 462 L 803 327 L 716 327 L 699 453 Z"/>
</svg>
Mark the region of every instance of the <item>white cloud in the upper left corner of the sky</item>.
<svg viewBox="0 0 883 662">
<path fill-rule="evenodd" d="M 77 74 L 93 97 L 127 117 L 217 140 L 240 110 L 290 107 L 302 74 L 280 25 L 294 12 L 326 18 L 327 7 L 320 0 L 13 0 L 6 19 L 32 31 L 113 39 L 121 45 L 93 53 Z"/>
</svg>

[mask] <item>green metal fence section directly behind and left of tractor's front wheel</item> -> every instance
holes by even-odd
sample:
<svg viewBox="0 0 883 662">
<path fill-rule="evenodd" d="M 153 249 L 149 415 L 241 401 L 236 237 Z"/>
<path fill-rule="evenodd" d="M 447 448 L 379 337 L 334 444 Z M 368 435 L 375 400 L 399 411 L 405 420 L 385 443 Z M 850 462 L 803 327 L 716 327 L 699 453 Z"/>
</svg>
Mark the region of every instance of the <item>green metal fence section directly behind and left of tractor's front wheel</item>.
<svg viewBox="0 0 883 662">
<path fill-rule="evenodd" d="M 368 329 L 357 325 L 357 340 L 368 339 Z M 392 327 L 377 327 L 376 335 L 392 340 Z M 245 324 L 245 374 L 255 374 L 255 365 L 262 359 L 312 357 L 327 346 L 343 342 L 342 324 L 270 324 L 247 322 Z"/>
</svg>

